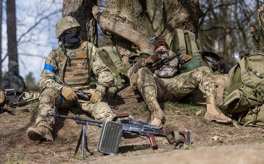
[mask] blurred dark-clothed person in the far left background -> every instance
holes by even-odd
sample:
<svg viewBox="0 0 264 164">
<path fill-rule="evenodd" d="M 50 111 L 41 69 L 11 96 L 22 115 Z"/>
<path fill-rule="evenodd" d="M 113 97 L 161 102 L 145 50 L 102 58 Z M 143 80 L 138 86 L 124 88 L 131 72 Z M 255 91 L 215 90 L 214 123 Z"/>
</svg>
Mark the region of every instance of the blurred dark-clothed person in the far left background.
<svg viewBox="0 0 264 164">
<path fill-rule="evenodd" d="M 18 74 L 18 64 L 16 61 L 9 61 L 8 72 L 3 77 L 2 87 L 3 89 L 16 88 L 17 96 L 9 96 L 11 98 L 10 103 L 16 103 L 19 95 L 27 90 L 23 77 Z"/>
</svg>

